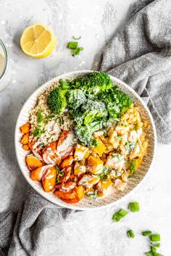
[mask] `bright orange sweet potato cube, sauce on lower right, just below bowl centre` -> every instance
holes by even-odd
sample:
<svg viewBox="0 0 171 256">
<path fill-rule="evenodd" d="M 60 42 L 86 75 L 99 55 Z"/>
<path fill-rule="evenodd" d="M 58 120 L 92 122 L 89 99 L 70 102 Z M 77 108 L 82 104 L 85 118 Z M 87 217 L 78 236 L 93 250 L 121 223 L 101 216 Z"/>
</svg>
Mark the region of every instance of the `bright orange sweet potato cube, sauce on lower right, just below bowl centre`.
<svg viewBox="0 0 171 256">
<path fill-rule="evenodd" d="M 88 171 L 93 174 L 101 173 L 103 170 L 104 161 L 99 157 L 90 156 L 88 157 Z"/>
</svg>

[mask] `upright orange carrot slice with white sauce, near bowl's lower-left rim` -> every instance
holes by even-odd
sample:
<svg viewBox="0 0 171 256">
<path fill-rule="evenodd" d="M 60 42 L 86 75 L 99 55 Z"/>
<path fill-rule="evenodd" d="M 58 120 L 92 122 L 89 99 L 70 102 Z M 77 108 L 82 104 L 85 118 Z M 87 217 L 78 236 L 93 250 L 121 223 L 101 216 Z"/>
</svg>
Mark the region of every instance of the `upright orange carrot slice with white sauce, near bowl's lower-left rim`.
<svg viewBox="0 0 171 256">
<path fill-rule="evenodd" d="M 47 168 L 41 179 L 43 189 L 46 192 L 54 190 L 57 178 L 57 170 L 54 167 Z"/>
</svg>

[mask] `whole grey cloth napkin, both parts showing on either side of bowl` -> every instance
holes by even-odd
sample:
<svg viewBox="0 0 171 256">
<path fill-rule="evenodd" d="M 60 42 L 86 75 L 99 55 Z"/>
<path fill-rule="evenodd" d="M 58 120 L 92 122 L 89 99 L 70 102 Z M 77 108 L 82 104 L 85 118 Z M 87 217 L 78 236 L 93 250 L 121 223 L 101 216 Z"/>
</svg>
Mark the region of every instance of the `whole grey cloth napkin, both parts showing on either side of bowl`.
<svg viewBox="0 0 171 256">
<path fill-rule="evenodd" d="M 171 1 L 144 0 L 135 4 L 133 15 L 102 54 L 101 70 L 124 80 L 151 110 L 158 140 L 171 141 Z M 18 213 L 0 215 L 0 255 L 46 254 L 46 228 L 56 228 L 58 243 L 62 223 L 74 211 L 47 201 L 28 187 Z M 55 252 L 54 255 L 57 255 Z"/>
</svg>

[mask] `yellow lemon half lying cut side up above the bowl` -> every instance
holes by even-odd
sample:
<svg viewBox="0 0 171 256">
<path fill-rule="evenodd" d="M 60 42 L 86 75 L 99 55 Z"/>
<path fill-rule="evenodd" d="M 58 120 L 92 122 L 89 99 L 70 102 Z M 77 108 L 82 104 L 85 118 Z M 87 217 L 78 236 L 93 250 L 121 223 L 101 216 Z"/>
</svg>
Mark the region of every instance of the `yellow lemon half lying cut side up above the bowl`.
<svg viewBox="0 0 171 256">
<path fill-rule="evenodd" d="M 22 51 L 33 58 L 48 56 L 56 44 L 54 32 L 39 23 L 26 28 L 20 39 Z"/>
</svg>

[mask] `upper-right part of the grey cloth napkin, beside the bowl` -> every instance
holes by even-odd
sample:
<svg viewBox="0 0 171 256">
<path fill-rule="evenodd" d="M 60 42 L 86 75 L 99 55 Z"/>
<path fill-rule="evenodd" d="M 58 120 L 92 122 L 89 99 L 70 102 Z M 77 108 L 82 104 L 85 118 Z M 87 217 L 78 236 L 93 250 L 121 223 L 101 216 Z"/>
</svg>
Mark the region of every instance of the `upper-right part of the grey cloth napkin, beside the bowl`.
<svg viewBox="0 0 171 256">
<path fill-rule="evenodd" d="M 128 23 L 102 54 L 101 70 L 128 83 L 146 102 L 157 140 L 171 142 L 171 1 L 137 1 Z"/>
</svg>

